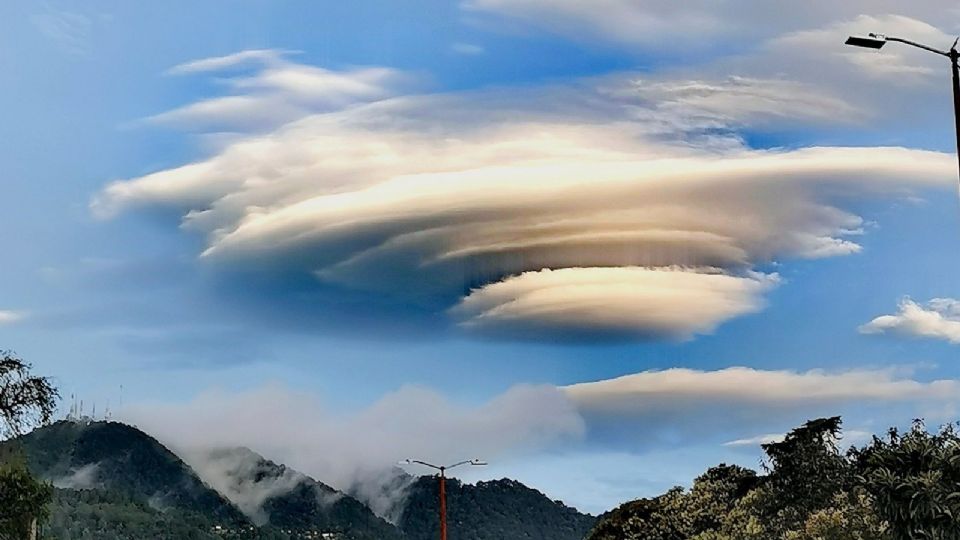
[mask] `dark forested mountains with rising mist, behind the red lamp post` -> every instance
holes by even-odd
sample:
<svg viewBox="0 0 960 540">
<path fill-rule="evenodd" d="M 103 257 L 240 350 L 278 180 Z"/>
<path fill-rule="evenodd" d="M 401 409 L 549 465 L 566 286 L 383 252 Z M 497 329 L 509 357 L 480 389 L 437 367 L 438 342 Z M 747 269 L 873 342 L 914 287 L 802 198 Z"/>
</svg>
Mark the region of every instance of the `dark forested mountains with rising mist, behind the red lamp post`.
<svg viewBox="0 0 960 540">
<path fill-rule="evenodd" d="M 397 469 L 338 491 L 249 448 L 184 452 L 116 422 L 61 421 L 0 443 L 56 488 L 47 538 L 420 540 L 438 534 L 436 477 Z M 447 480 L 450 534 L 579 540 L 595 522 L 513 480 Z M 91 536 L 92 535 L 92 536 Z"/>
</svg>

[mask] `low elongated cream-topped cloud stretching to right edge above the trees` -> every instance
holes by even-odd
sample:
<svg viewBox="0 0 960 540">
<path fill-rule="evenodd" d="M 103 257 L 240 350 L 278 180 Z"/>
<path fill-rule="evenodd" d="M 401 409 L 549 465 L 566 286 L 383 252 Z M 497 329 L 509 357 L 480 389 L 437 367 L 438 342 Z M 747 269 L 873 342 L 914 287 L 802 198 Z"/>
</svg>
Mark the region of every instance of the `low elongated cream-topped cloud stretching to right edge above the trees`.
<svg viewBox="0 0 960 540">
<path fill-rule="evenodd" d="M 618 423 L 658 422 L 690 436 L 707 424 L 716 423 L 713 430 L 738 431 L 740 424 L 756 428 L 798 412 L 837 414 L 851 403 L 888 408 L 925 404 L 934 415 L 939 414 L 938 404 L 955 403 L 958 392 L 958 381 L 920 382 L 893 369 L 796 372 L 744 367 L 645 371 L 564 388 L 588 422 L 592 419 L 605 429 L 623 430 Z"/>
</svg>

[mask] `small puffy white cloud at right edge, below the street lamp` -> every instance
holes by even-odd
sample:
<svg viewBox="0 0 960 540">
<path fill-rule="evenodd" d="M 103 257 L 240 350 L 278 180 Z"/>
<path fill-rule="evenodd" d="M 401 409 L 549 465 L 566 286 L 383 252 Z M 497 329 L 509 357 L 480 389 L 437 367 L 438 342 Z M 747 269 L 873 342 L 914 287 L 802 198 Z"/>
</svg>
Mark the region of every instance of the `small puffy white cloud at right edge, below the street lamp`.
<svg viewBox="0 0 960 540">
<path fill-rule="evenodd" d="M 864 334 L 892 333 L 960 343 L 960 301 L 934 298 L 925 305 L 909 298 L 900 302 L 895 315 L 882 315 L 860 327 Z"/>
</svg>

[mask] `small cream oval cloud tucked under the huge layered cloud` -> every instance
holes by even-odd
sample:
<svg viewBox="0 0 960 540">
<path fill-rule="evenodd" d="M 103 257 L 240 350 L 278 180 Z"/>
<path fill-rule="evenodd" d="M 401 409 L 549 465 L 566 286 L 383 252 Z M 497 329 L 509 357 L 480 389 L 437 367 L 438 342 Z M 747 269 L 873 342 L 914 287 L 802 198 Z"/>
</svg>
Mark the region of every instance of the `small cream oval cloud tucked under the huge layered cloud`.
<svg viewBox="0 0 960 540">
<path fill-rule="evenodd" d="M 686 339 L 758 311 L 760 294 L 776 282 L 710 269 L 541 270 L 477 289 L 453 312 L 464 327 L 495 334 Z"/>
</svg>

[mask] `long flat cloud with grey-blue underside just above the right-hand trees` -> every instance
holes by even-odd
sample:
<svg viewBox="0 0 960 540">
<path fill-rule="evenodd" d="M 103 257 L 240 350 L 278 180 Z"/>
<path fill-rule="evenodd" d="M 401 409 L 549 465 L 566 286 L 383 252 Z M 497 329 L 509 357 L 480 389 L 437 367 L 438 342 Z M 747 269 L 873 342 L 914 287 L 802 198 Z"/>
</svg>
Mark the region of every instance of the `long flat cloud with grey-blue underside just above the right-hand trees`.
<svg viewBox="0 0 960 540">
<path fill-rule="evenodd" d="M 752 439 L 822 416 L 884 428 L 917 417 L 945 421 L 960 404 L 960 381 L 924 382 L 895 369 L 673 368 L 563 391 L 583 416 L 588 440 L 637 452 Z"/>
</svg>

